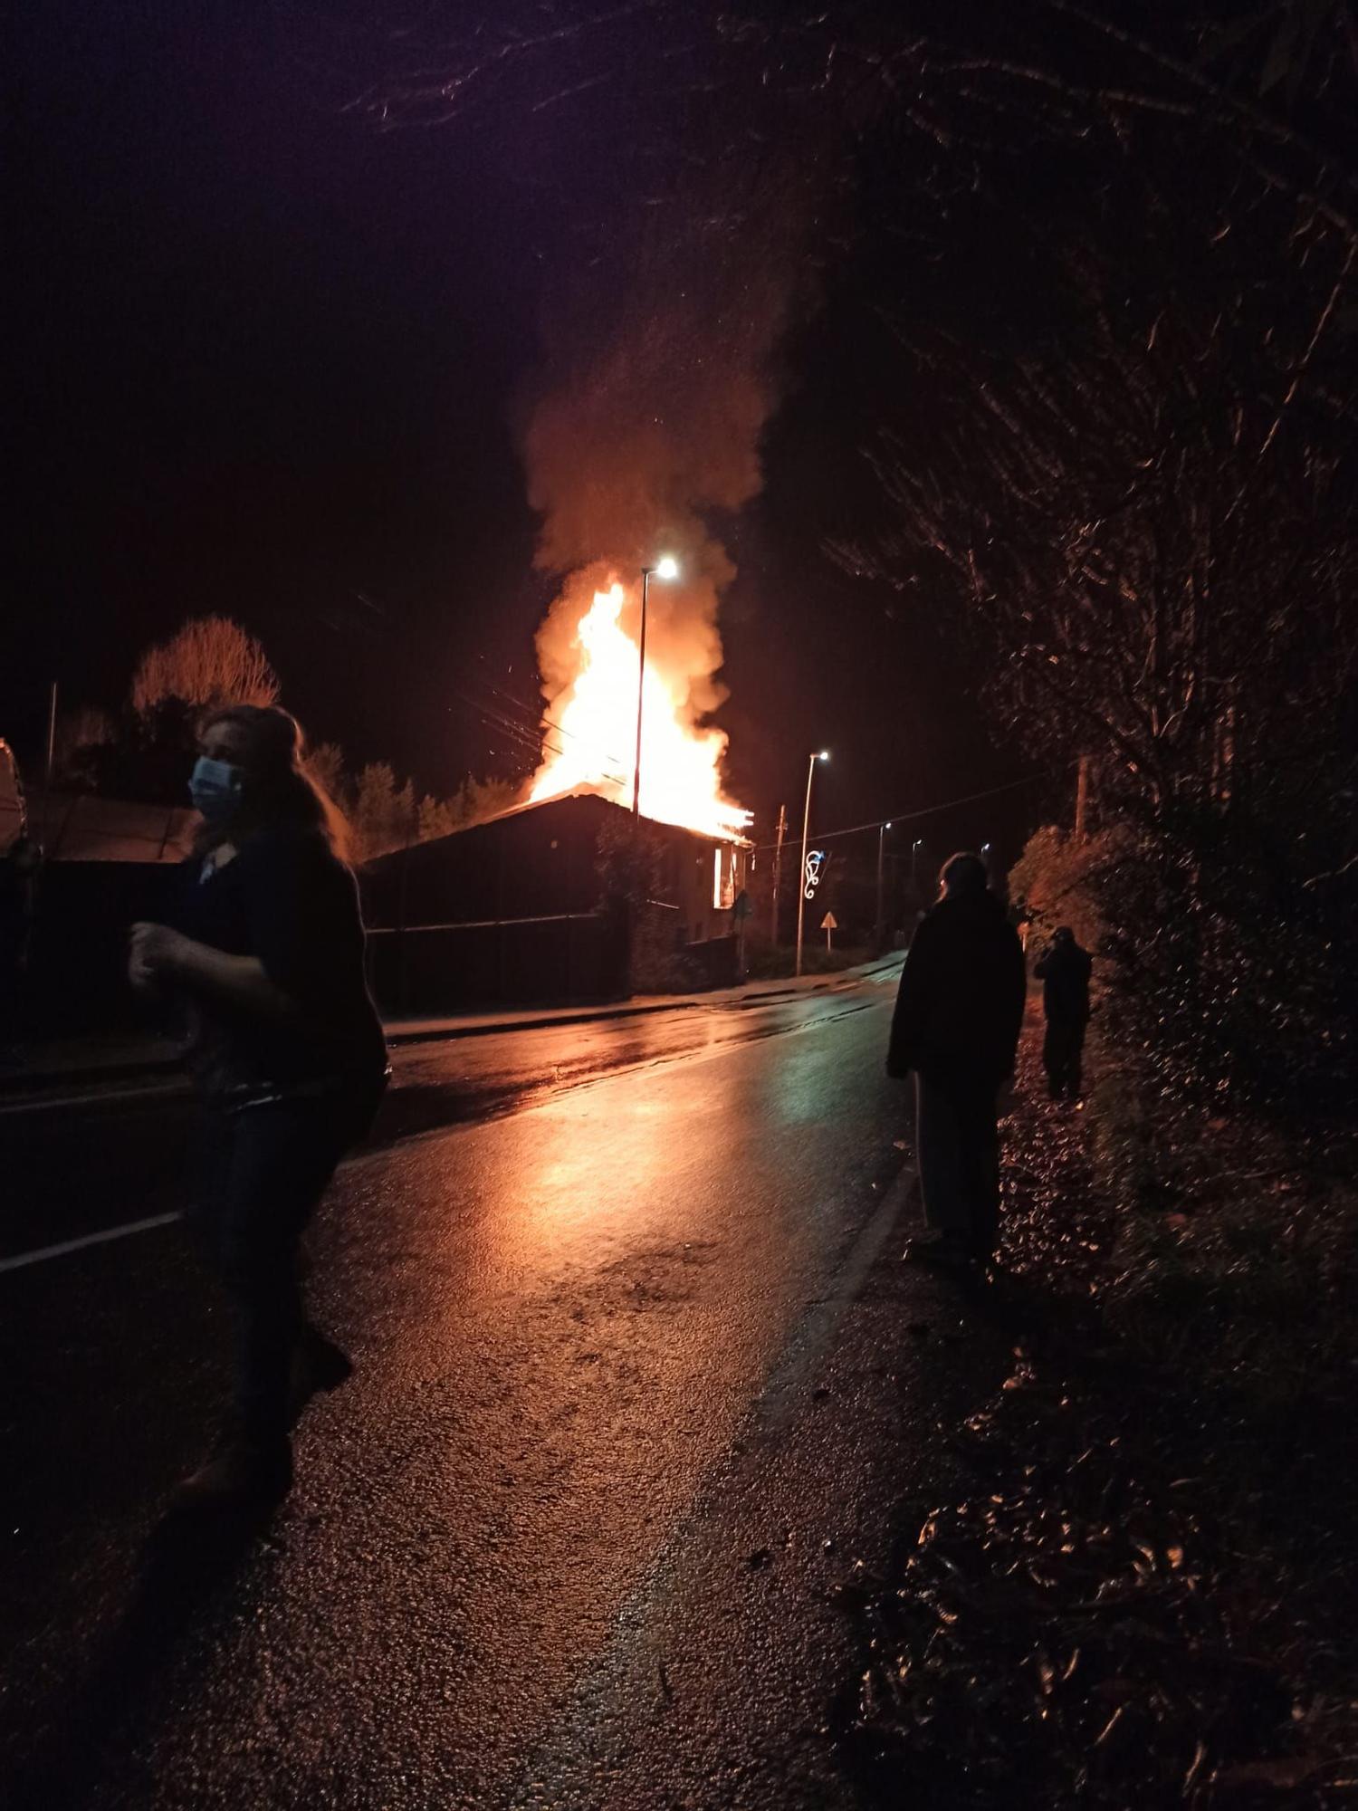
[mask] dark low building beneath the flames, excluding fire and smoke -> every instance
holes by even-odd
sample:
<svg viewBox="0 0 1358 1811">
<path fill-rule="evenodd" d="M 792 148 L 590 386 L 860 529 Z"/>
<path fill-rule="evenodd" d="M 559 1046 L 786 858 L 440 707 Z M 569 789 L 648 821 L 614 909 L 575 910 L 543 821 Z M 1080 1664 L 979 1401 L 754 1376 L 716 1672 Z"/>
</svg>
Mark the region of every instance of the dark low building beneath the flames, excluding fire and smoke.
<svg viewBox="0 0 1358 1811">
<path fill-rule="evenodd" d="M 650 819 L 634 840 L 594 793 L 516 806 L 368 864 L 373 991 L 404 1014 L 735 982 L 744 862 Z"/>
</svg>

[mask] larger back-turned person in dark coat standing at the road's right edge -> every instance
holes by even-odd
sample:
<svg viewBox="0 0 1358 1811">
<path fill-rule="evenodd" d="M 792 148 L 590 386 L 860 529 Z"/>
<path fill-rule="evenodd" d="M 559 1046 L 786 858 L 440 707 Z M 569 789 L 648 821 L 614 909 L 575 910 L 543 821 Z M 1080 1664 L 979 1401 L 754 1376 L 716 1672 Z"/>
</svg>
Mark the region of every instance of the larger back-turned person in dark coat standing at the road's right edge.
<svg viewBox="0 0 1358 1811">
<path fill-rule="evenodd" d="M 929 1235 L 909 1257 L 985 1262 L 999 1231 L 999 1088 L 1014 1072 L 1023 947 L 980 855 L 954 855 L 914 933 L 891 1021 L 887 1074 L 914 1074 Z"/>
</svg>

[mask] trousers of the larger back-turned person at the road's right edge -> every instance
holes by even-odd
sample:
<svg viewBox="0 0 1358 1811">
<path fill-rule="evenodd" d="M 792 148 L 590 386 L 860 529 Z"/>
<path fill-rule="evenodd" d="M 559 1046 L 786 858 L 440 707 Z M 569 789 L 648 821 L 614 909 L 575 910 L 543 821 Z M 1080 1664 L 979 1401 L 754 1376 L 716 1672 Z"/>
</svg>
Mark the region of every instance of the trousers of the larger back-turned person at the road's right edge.
<svg viewBox="0 0 1358 1811">
<path fill-rule="evenodd" d="M 914 1078 L 914 1143 L 923 1217 L 990 1257 L 999 1235 L 999 1090 L 985 1081 Z"/>
</svg>

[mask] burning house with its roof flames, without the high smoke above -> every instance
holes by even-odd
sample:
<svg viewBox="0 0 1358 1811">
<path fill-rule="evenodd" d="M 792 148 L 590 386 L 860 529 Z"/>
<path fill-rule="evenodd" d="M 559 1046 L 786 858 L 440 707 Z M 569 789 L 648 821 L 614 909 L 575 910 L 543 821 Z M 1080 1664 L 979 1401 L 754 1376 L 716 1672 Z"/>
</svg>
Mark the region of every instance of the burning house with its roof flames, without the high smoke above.
<svg viewBox="0 0 1358 1811">
<path fill-rule="evenodd" d="M 726 737 L 704 721 L 715 589 L 699 574 L 670 592 L 643 663 L 645 599 L 616 569 L 574 574 L 538 636 L 547 710 L 525 802 L 369 864 L 387 1012 L 737 978 L 750 815 L 722 790 Z"/>
</svg>

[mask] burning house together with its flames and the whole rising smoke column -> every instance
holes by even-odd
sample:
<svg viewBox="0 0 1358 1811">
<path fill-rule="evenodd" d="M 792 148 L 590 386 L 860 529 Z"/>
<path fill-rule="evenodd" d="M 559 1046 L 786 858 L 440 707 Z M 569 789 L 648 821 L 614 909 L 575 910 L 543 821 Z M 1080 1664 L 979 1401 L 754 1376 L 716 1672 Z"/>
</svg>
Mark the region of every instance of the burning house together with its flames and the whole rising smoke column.
<svg viewBox="0 0 1358 1811">
<path fill-rule="evenodd" d="M 710 518 L 762 482 L 793 241 L 786 210 L 755 255 L 693 257 L 677 290 L 666 241 L 607 306 L 570 331 L 558 317 L 521 449 L 534 563 L 558 580 L 536 637 L 541 761 L 521 806 L 371 864 L 387 1011 L 735 978 L 750 817 L 712 723 L 735 567 Z"/>
</svg>

